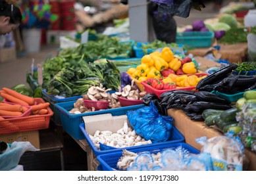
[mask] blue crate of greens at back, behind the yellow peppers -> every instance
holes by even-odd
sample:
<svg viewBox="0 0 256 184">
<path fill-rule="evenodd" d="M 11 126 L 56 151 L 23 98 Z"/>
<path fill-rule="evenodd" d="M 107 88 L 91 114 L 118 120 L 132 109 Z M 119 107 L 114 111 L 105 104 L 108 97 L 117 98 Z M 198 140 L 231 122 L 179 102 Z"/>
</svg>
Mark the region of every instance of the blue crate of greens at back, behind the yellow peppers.
<svg viewBox="0 0 256 184">
<path fill-rule="evenodd" d="M 137 42 L 137 44 L 134 44 L 134 51 L 135 51 L 135 55 L 136 57 L 138 58 L 142 58 L 145 53 L 143 52 L 143 49 L 142 49 L 142 45 L 148 45 L 149 43 L 147 42 Z M 159 48 L 161 49 L 161 48 Z M 159 49 L 147 49 L 147 55 L 149 55 L 150 53 L 153 53 L 154 51 L 157 51 Z M 172 50 L 172 52 L 175 54 L 175 55 L 182 55 L 183 57 L 185 56 L 185 51 L 183 50 L 183 45 L 178 45 L 177 48 L 175 47 L 171 47 L 170 48 Z M 160 51 L 161 52 L 161 51 Z"/>
</svg>

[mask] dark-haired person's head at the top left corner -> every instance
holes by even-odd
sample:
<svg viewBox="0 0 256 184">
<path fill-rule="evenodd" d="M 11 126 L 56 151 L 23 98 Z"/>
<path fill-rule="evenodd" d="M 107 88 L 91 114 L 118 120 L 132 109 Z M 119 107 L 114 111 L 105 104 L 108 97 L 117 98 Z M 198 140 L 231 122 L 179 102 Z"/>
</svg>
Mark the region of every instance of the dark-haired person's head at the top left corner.
<svg viewBox="0 0 256 184">
<path fill-rule="evenodd" d="M 20 9 L 5 0 L 0 0 L 0 35 L 9 34 L 20 26 L 21 21 Z"/>
</svg>

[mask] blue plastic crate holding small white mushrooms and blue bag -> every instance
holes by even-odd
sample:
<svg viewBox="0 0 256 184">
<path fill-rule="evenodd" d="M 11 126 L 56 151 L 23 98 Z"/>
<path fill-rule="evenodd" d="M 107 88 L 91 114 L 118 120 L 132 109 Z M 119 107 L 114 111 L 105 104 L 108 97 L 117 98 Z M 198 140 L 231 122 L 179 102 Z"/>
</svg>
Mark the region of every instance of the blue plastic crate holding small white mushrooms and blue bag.
<svg viewBox="0 0 256 184">
<path fill-rule="evenodd" d="M 98 156 L 100 154 L 107 154 L 109 152 L 116 152 L 117 150 L 123 150 L 123 149 L 128 149 L 129 147 L 125 147 L 122 149 L 116 149 L 115 147 L 104 147 L 105 145 L 103 145 L 104 150 L 99 150 L 97 149 L 97 147 L 95 147 L 95 145 L 93 144 L 93 142 L 91 141 L 88 133 L 86 132 L 84 123 L 80 124 L 80 129 L 82 131 L 82 133 L 84 134 L 84 136 L 86 137 L 86 141 L 88 142 L 89 146 L 91 147 L 91 150 L 93 151 L 93 153 Z M 180 133 L 180 131 L 178 131 L 178 129 L 176 129 L 176 127 L 172 127 L 171 133 L 170 133 L 170 140 L 169 141 L 165 141 L 162 143 L 152 143 L 150 145 L 140 145 L 140 146 L 136 146 L 136 147 L 140 147 L 140 148 L 146 148 L 146 147 L 151 147 L 153 145 L 166 145 L 168 143 L 182 143 L 185 141 L 184 136 L 182 135 L 182 133 Z"/>
</svg>

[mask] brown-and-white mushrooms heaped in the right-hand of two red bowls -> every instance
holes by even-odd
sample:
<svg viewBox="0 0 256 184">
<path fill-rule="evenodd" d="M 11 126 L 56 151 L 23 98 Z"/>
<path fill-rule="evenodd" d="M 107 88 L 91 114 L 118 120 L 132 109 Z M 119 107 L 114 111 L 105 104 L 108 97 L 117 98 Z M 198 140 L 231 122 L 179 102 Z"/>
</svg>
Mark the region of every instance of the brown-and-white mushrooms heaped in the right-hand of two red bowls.
<svg viewBox="0 0 256 184">
<path fill-rule="evenodd" d="M 118 99 L 117 97 L 124 97 L 128 100 L 141 100 L 146 95 L 146 92 L 139 92 L 139 89 L 134 87 L 134 85 L 126 85 L 122 89 L 119 87 L 119 90 L 112 95 L 115 99 Z"/>
</svg>

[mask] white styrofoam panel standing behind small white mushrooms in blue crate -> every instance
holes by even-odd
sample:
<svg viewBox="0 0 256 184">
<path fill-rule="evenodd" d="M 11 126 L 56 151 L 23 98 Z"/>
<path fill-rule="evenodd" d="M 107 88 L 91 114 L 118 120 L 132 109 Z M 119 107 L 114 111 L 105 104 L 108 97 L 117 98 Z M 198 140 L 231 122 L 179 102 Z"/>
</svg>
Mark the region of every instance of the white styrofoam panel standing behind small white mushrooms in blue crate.
<svg viewBox="0 0 256 184">
<path fill-rule="evenodd" d="M 99 114 L 94 116 L 84 116 L 84 127 L 86 132 L 94 135 L 95 131 L 116 131 L 124 126 L 124 121 L 127 120 L 126 115 L 112 116 L 112 114 Z"/>
</svg>

